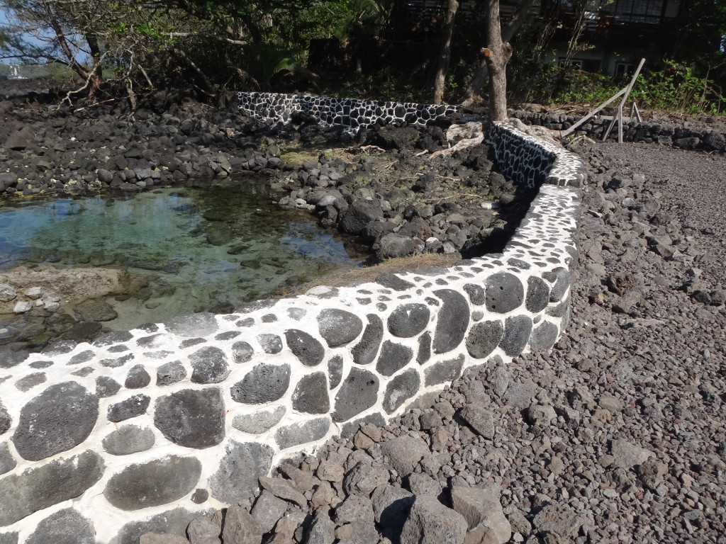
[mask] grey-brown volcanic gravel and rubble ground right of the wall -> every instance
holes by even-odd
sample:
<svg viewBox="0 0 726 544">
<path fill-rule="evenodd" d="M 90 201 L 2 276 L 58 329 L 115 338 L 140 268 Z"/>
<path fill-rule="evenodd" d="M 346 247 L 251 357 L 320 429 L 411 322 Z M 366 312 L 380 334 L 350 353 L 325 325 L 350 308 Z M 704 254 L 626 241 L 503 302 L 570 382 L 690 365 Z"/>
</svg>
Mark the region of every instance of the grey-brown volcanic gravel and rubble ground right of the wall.
<svg viewBox="0 0 726 544">
<path fill-rule="evenodd" d="M 423 410 L 281 466 L 227 514 L 228 535 L 726 543 L 726 157 L 580 151 L 592 178 L 555 349 L 490 360 Z M 220 534 L 221 516 L 195 523 L 192 543 Z"/>
</svg>

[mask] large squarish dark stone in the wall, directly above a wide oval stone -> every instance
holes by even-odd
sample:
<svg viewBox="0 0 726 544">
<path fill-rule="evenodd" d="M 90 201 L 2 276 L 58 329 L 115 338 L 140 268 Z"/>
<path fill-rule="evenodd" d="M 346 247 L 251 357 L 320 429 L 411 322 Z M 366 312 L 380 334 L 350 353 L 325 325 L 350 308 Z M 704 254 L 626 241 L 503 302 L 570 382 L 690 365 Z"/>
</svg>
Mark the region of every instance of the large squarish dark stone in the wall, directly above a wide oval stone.
<svg viewBox="0 0 726 544">
<path fill-rule="evenodd" d="M 182 390 L 160 397 L 154 424 L 171 442 L 209 448 L 224 440 L 224 400 L 216 387 Z"/>
</svg>

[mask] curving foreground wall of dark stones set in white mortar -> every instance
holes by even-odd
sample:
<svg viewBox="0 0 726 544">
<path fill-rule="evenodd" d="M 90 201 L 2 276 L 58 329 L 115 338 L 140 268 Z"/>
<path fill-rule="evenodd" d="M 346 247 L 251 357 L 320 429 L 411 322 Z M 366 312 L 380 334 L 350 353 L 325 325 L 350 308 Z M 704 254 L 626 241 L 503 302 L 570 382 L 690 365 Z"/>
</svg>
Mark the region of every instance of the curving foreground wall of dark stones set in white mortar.
<svg viewBox="0 0 726 544">
<path fill-rule="evenodd" d="M 549 182 L 501 254 L 2 361 L 0 543 L 183 534 L 248 504 L 283 458 L 384 424 L 465 368 L 551 348 L 578 255 L 581 195 L 563 185 L 582 162 L 507 125 L 492 137 L 499 157 L 526 150 L 507 156 L 532 173 L 513 177 Z"/>
</svg>

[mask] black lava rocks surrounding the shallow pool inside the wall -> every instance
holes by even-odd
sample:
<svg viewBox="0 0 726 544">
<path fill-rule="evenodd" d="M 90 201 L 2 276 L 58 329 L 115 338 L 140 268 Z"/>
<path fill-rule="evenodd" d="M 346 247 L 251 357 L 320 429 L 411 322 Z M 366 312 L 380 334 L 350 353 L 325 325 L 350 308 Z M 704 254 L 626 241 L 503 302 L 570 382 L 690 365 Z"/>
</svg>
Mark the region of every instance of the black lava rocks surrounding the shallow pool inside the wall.
<svg viewBox="0 0 726 544">
<path fill-rule="evenodd" d="M 303 118 L 269 127 L 236 105 L 187 103 L 164 113 L 139 110 L 135 119 L 120 112 L 113 103 L 70 108 L 27 95 L 0 100 L 0 198 L 134 194 L 254 176 L 266 180 L 280 205 L 309 210 L 321 226 L 355 236 L 376 262 L 497 252 L 534 196 L 492 170 L 486 145 L 430 159 L 448 145 L 440 126 L 379 126 L 353 141 Z M 486 199 L 497 202 L 482 207 Z M 13 294 L 5 291 L 3 300 Z M 62 293 L 43 305 L 15 294 L 22 313 L 0 321 L 4 350 L 40 350 L 105 332 L 102 321 L 59 307 Z"/>
</svg>

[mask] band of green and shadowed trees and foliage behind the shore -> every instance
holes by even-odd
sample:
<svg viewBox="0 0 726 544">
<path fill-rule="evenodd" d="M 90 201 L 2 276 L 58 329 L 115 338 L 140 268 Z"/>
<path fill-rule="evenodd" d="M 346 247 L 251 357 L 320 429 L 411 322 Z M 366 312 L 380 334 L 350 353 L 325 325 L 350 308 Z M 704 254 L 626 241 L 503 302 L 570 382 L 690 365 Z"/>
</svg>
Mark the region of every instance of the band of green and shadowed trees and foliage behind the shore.
<svg viewBox="0 0 726 544">
<path fill-rule="evenodd" d="M 603 8 L 613 0 L 597 0 Z M 132 104 L 158 89 L 198 98 L 234 89 L 340 92 L 429 101 L 444 12 L 411 22 L 403 0 L 0 0 L 0 62 L 65 66 L 77 85 L 68 99 L 126 91 Z M 415 4 L 415 3 L 414 3 Z M 440 4 L 446 8 L 446 1 Z M 580 72 L 569 59 L 587 51 L 591 0 L 540 0 L 502 33 L 513 46 L 510 100 L 592 103 L 621 81 Z M 529 5 L 527 5 L 529 4 Z M 471 6 L 474 9 L 470 9 Z M 454 20 L 444 100 L 481 100 L 489 0 L 461 3 Z M 535 16 L 536 15 L 536 16 Z M 568 18 L 569 17 L 569 18 Z M 515 16 L 516 18 L 516 16 Z M 578 24 L 579 23 L 579 24 Z M 401 32 L 405 29 L 405 33 Z M 507 28 L 515 28 L 507 35 Z M 561 66 L 542 62 L 553 36 L 566 44 Z M 726 88 L 726 0 L 680 2 L 668 51 L 648 56 L 634 95 L 667 110 L 722 112 Z M 439 63 L 440 64 L 440 63 Z M 56 70 L 58 72 L 58 70 Z M 441 77 L 438 80 L 441 84 Z M 481 96 L 480 96 L 481 93 Z"/>
</svg>

